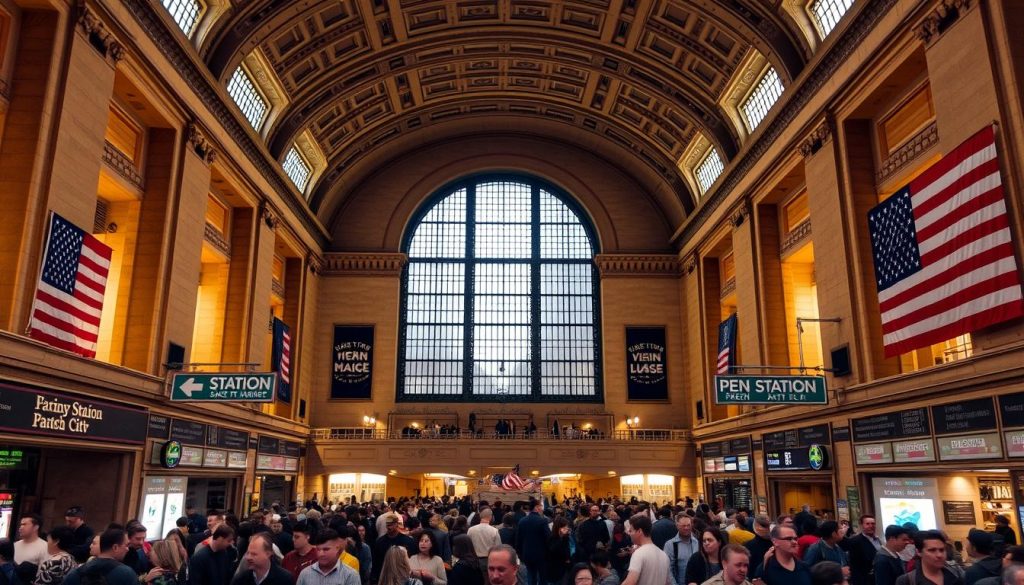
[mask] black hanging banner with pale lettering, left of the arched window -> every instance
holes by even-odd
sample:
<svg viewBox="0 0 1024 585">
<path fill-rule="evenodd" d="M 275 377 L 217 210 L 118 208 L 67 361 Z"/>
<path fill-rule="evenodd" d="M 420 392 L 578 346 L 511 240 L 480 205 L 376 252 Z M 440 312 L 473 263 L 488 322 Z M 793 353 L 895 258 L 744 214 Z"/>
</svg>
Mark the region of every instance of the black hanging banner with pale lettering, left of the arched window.
<svg viewBox="0 0 1024 585">
<path fill-rule="evenodd" d="M 335 325 L 331 398 L 369 399 L 373 384 L 374 326 Z"/>
</svg>

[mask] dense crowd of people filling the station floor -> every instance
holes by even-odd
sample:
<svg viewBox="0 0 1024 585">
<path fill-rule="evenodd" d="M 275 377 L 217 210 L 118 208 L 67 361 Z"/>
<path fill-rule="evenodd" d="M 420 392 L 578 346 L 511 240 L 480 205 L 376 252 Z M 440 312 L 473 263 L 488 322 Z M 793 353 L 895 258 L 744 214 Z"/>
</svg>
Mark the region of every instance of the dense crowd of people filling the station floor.
<svg viewBox="0 0 1024 585">
<path fill-rule="evenodd" d="M 879 530 L 805 507 L 769 518 L 690 499 L 560 504 L 415 498 L 284 508 L 241 520 L 189 510 L 166 535 L 137 520 L 98 534 L 81 507 L 0 539 L 0 585 L 1024 585 L 1005 517 L 967 557 L 935 530 Z M 163 538 L 157 538 L 163 536 Z"/>
</svg>

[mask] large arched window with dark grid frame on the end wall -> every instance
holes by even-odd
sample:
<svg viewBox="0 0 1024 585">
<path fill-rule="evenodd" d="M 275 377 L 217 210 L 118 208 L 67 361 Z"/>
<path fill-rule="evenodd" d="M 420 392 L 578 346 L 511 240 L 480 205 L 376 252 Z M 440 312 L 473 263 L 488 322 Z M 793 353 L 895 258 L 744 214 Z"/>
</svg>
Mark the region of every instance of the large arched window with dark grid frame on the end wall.
<svg viewBox="0 0 1024 585">
<path fill-rule="evenodd" d="M 601 400 L 597 242 L 551 185 L 441 190 L 403 242 L 398 401 Z"/>
</svg>

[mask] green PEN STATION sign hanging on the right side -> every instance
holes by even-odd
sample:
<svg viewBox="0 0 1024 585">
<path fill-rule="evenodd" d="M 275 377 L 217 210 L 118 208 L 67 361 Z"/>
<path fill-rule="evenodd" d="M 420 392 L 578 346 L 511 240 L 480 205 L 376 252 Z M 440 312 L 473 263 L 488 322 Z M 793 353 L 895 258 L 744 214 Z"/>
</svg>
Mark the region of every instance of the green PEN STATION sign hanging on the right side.
<svg viewBox="0 0 1024 585">
<path fill-rule="evenodd" d="M 823 376 L 715 376 L 720 405 L 826 405 Z"/>
</svg>

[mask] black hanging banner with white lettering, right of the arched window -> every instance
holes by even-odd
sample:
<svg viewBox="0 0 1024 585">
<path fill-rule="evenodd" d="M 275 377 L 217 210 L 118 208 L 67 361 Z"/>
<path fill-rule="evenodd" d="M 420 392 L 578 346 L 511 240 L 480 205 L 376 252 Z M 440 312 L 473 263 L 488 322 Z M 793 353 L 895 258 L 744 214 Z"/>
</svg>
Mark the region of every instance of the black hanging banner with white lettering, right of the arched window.
<svg viewBox="0 0 1024 585">
<path fill-rule="evenodd" d="M 631 401 L 669 400 L 664 327 L 626 328 L 626 383 Z"/>
</svg>

